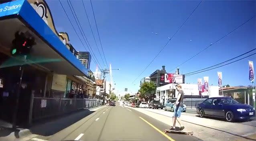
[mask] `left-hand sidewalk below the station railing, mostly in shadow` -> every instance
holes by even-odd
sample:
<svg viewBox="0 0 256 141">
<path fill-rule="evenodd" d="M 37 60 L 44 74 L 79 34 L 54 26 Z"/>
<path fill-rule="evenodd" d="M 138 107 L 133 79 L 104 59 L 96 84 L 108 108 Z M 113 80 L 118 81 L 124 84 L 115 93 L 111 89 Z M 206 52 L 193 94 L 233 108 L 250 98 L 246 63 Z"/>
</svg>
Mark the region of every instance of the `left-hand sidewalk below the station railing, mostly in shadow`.
<svg viewBox="0 0 256 141">
<path fill-rule="evenodd" d="M 81 109 L 73 113 L 47 118 L 34 123 L 30 129 L 18 128 L 13 130 L 12 124 L 0 120 L 0 141 L 22 141 L 24 138 L 33 138 L 37 135 L 53 135 L 101 107 L 104 106 L 94 107 L 92 109 Z"/>
</svg>

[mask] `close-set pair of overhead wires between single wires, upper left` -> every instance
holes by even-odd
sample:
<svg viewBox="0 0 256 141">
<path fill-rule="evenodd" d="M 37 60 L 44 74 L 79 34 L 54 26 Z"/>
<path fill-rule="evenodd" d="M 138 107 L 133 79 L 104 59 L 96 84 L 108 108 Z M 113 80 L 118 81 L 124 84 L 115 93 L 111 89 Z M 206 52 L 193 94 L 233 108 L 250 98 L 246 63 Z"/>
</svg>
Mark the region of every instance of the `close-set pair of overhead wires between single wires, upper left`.
<svg viewBox="0 0 256 141">
<path fill-rule="evenodd" d="M 70 2 L 70 5 L 69 5 L 69 2 Z M 94 54 L 94 52 L 93 52 L 93 50 L 92 50 L 92 48 L 91 48 L 91 45 L 89 44 L 89 41 L 87 40 L 87 38 L 86 38 L 86 35 L 85 35 L 85 32 L 83 31 L 83 28 L 82 28 L 82 26 L 81 26 L 81 24 L 80 24 L 80 22 L 79 22 L 79 19 L 78 19 L 78 17 L 77 17 L 77 14 L 75 13 L 75 10 L 74 10 L 74 8 L 73 8 L 73 5 L 72 5 L 72 3 L 71 3 L 71 1 L 69 0 L 69 2 L 68 2 L 68 0 L 67 0 L 67 4 L 69 5 L 69 8 L 70 8 L 70 10 L 71 10 L 71 12 L 72 12 L 72 15 L 73 15 L 73 17 L 75 18 L 75 22 L 76 22 L 76 24 L 77 24 L 77 26 L 78 26 L 78 28 L 79 28 L 79 26 L 80 26 L 80 28 L 79 28 L 79 31 L 80 31 L 80 33 L 82 34 L 82 37 L 83 37 L 83 40 L 85 41 L 85 43 L 86 43 L 86 45 L 87 45 L 87 47 L 89 47 L 89 50 L 91 51 L 91 53 L 92 53 L 92 56 L 94 56 L 94 58 L 96 59 L 96 61 L 100 64 L 100 62 L 98 61 L 98 59 L 97 59 L 97 57 L 96 57 L 96 55 Z M 71 7 L 70 7 L 71 6 Z M 72 8 L 72 9 L 71 9 Z M 74 13 L 73 13 L 73 11 L 74 11 Z M 75 15 L 74 15 L 75 14 Z M 77 20 L 77 21 L 76 21 Z M 77 23 L 78 22 L 78 23 Z M 88 43 L 88 44 L 87 44 Z M 104 64 L 104 62 L 103 62 L 103 64 Z"/>
</svg>

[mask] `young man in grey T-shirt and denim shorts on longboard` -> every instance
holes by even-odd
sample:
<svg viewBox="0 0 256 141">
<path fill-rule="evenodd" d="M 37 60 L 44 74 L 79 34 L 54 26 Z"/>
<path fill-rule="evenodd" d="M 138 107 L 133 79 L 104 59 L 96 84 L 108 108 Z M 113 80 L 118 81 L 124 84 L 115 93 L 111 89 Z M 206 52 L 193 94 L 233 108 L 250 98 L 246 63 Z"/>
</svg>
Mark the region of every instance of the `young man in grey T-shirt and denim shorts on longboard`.
<svg viewBox="0 0 256 141">
<path fill-rule="evenodd" d="M 176 130 L 175 125 L 176 125 L 176 121 L 178 121 L 179 125 L 180 125 L 180 131 L 183 130 L 185 127 L 181 125 L 181 111 L 183 110 L 183 108 L 181 106 L 183 106 L 183 98 L 184 98 L 184 92 L 181 89 L 181 85 L 178 84 L 176 85 L 176 89 L 179 92 L 177 100 L 175 102 L 175 111 L 173 112 L 173 126 L 171 127 L 170 130 Z"/>
</svg>

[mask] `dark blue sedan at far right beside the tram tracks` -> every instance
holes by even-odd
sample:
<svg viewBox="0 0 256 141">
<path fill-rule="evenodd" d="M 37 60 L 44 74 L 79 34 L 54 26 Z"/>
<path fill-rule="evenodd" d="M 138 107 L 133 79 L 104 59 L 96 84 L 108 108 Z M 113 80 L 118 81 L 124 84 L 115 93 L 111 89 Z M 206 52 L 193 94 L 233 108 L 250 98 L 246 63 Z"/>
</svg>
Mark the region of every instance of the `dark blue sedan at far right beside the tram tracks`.
<svg viewBox="0 0 256 141">
<path fill-rule="evenodd" d="M 199 103 L 196 108 L 200 117 L 225 118 L 228 122 L 247 120 L 255 116 L 252 106 L 241 104 L 230 97 L 212 97 Z"/>
</svg>

